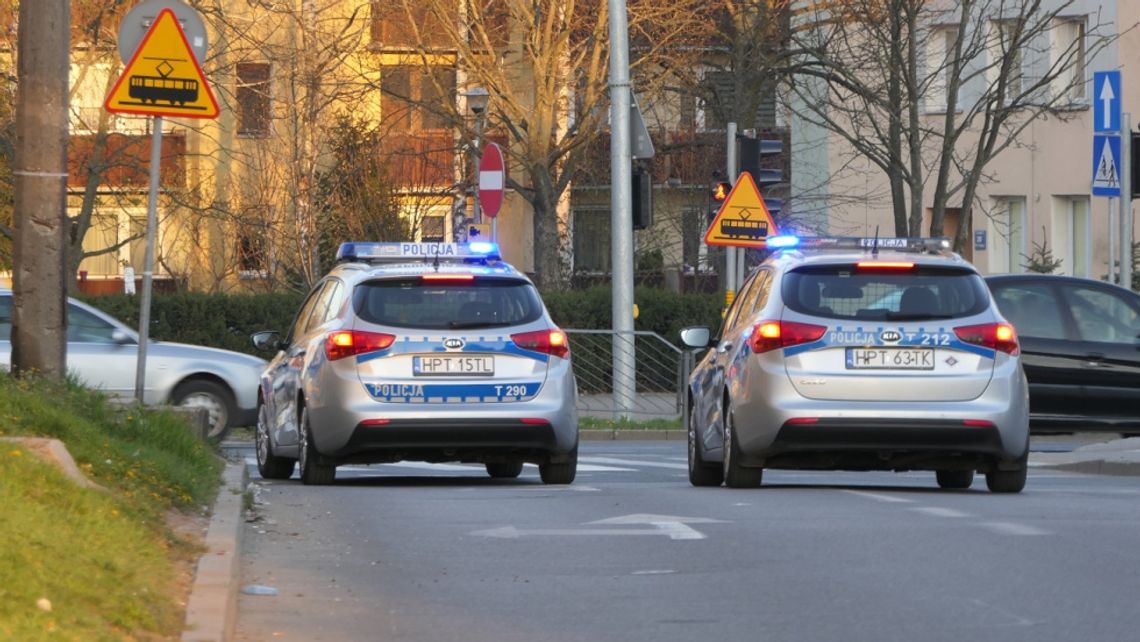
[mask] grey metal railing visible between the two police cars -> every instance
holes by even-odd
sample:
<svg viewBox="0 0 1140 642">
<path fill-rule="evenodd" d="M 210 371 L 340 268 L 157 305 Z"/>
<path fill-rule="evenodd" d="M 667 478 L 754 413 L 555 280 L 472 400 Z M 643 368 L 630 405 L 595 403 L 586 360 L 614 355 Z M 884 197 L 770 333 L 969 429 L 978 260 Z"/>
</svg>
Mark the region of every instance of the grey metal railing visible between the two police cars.
<svg viewBox="0 0 1140 642">
<path fill-rule="evenodd" d="M 578 380 L 578 414 L 618 418 L 613 399 L 613 342 L 632 342 L 635 351 L 635 395 L 625 404 L 629 418 L 675 420 L 685 412 L 685 382 L 693 367 L 692 352 L 677 348 L 656 332 L 565 330 L 571 364 Z"/>
</svg>

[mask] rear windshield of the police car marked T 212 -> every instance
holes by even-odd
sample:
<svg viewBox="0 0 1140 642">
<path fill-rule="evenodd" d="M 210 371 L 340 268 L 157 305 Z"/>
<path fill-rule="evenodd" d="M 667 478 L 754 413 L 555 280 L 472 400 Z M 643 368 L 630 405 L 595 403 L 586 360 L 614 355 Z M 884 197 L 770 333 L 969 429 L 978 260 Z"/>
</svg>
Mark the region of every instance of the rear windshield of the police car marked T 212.
<svg viewBox="0 0 1140 642">
<path fill-rule="evenodd" d="M 782 295 L 797 312 L 834 319 L 950 319 L 977 315 L 990 306 L 977 273 L 940 266 L 806 266 L 787 275 Z"/>
</svg>

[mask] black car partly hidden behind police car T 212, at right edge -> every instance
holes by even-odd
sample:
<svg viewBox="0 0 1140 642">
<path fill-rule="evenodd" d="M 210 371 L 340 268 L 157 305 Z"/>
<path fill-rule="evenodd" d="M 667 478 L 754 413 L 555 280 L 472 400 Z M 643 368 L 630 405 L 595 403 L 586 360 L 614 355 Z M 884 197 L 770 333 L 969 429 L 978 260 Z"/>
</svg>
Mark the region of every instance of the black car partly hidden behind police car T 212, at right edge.
<svg viewBox="0 0 1140 642">
<path fill-rule="evenodd" d="M 1140 432 L 1140 294 L 1059 275 L 986 283 L 1021 342 L 1033 432 Z"/>
</svg>

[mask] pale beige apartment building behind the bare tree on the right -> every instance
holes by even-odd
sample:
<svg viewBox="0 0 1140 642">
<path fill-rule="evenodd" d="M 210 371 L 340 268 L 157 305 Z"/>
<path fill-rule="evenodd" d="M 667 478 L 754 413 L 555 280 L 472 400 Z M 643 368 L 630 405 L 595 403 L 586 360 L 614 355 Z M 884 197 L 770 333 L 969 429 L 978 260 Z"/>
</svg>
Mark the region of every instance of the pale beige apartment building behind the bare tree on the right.
<svg viewBox="0 0 1140 642">
<path fill-rule="evenodd" d="M 1104 278 L 1109 255 L 1119 257 L 1109 244 L 1109 237 L 1118 244 L 1118 219 L 1114 216 L 1110 226 L 1108 198 L 1091 195 L 1093 109 L 1098 105 L 1091 81 L 1096 71 L 1121 70 L 1124 112 L 1140 116 L 1140 76 L 1130 72 L 1130 62 L 1140 59 L 1140 5 L 1054 0 L 1042 3 L 1035 16 L 1020 17 L 997 13 L 1002 7 L 1011 10 L 1008 2 L 975 5 L 984 9 L 968 21 L 963 32 L 956 21 L 956 2 L 930 3 L 938 9 L 927 11 L 926 21 L 919 24 L 914 65 L 921 81 L 917 106 L 922 127 L 942 127 L 947 89 L 955 84 L 959 117 L 971 109 L 984 115 L 986 100 L 996 100 L 1000 106 L 1001 97 L 995 92 L 999 76 L 1002 96 L 1019 98 L 1026 105 L 996 132 L 997 140 L 1004 143 L 985 164 L 967 208 L 970 213 L 963 221 L 967 243 L 962 253 L 984 273 L 1018 273 L 1027 269 L 1031 257 L 1048 249 L 1060 260 L 1057 273 Z M 1017 29 L 1032 33 L 1017 41 Z M 959 41 L 967 46 L 955 48 Z M 1010 42 L 1018 46 L 1010 48 Z M 976 47 L 970 49 L 969 43 Z M 947 75 L 953 68 L 947 59 L 962 50 L 966 54 L 960 55 L 969 59 L 958 70 L 960 82 L 954 83 Z M 1003 60 L 1008 67 L 1001 66 Z M 799 82 L 817 92 L 824 90 L 819 80 L 801 78 Z M 873 235 L 879 230 L 893 235 L 893 200 L 886 173 L 833 128 L 822 127 L 805 104 L 805 94 L 789 100 L 793 206 L 820 231 Z M 1039 117 L 1027 117 L 1034 105 L 1043 104 L 1049 109 Z M 980 117 L 966 128 L 956 140 L 958 159 L 976 157 L 986 144 L 983 129 Z M 936 136 L 926 141 L 922 154 L 927 168 L 937 168 L 940 141 Z M 962 168 L 952 174 L 952 184 L 960 181 Z M 936 178 L 931 170 L 923 182 L 923 234 L 929 233 L 936 206 Z M 907 190 L 905 196 L 910 195 Z M 1131 214 L 1131 208 L 1126 211 Z M 963 193 L 959 190 L 945 203 L 946 236 L 954 236 L 962 212 Z"/>
</svg>

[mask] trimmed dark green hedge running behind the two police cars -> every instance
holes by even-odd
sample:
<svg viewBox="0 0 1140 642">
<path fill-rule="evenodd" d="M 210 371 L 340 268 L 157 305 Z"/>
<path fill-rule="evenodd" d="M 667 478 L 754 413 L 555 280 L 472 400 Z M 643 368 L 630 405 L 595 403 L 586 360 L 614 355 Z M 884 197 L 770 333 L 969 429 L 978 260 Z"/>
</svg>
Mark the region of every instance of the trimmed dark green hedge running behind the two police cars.
<svg viewBox="0 0 1140 642">
<path fill-rule="evenodd" d="M 250 335 L 261 330 L 287 331 L 303 298 L 303 294 L 298 293 L 156 293 L 150 307 L 150 338 L 255 353 Z M 609 287 L 551 292 L 543 298 L 554 323 L 560 327 L 612 327 L 612 298 Z M 138 296 L 105 294 L 83 299 L 131 327 L 138 327 Z M 656 332 L 674 344 L 679 343 L 678 333 L 682 327 L 707 325 L 715 331 L 720 323 L 720 298 L 715 294 L 678 294 L 638 287 L 635 290 L 634 301 L 641 309 L 634 328 Z"/>
</svg>

